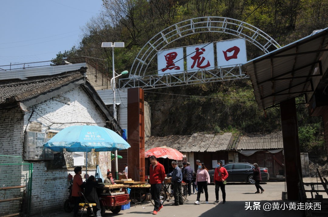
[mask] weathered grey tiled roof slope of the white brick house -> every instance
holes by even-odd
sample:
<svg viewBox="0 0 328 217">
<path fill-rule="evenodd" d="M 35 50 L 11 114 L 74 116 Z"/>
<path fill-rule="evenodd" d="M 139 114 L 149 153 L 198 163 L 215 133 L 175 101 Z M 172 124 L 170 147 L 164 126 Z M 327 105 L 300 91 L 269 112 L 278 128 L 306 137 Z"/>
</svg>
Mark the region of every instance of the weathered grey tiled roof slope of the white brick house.
<svg viewBox="0 0 328 217">
<path fill-rule="evenodd" d="M 82 79 L 80 71 L 0 84 L 0 104 L 26 100 Z"/>
</svg>

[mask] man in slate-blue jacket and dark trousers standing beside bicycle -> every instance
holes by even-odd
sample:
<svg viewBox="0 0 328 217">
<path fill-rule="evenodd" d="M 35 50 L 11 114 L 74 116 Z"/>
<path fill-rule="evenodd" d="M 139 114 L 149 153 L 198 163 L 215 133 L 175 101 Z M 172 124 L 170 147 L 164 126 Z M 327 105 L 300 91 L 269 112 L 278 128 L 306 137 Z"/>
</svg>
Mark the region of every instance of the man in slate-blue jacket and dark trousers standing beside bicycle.
<svg viewBox="0 0 328 217">
<path fill-rule="evenodd" d="M 167 174 L 167 177 L 172 177 L 174 204 L 172 206 L 183 205 L 183 198 L 181 192 L 182 173 L 175 161 L 172 161 L 173 171 Z"/>
</svg>

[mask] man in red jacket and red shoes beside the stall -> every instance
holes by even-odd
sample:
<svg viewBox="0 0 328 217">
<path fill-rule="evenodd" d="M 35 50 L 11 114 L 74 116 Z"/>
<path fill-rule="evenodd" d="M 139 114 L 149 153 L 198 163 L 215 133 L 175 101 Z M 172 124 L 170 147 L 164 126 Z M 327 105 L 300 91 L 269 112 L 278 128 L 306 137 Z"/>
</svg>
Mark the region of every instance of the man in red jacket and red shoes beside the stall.
<svg viewBox="0 0 328 217">
<path fill-rule="evenodd" d="M 150 170 L 149 170 L 149 183 L 150 183 L 150 193 L 154 199 L 154 211 L 153 215 L 156 215 L 157 212 L 163 208 L 163 205 L 160 202 L 160 192 L 162 189 L 162 183 L 165 178 L 164 166 L 157 162 L 157 159 L 154 155 L 150 156 Z"/>
</svg>

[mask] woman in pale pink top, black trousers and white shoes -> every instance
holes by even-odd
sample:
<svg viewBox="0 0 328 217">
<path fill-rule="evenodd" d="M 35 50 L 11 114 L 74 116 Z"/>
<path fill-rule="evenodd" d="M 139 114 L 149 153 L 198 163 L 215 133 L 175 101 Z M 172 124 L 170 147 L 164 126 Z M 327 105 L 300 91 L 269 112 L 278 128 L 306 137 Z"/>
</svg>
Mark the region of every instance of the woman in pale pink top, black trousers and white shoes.
<svg viewBox="0 0 328 217">
<path fill-rule="evenodd" d="M 200 198 L 202 189 L 204 189 L 205 201 L 208 204 L 207 185 L 210 184 L 210 175 L 208 174 L 207 171 L 208 171 L 208 169 L 206 169 L 204 163 L 201 163 L 198 165 L 196 182 L 195 182 L 195 185 L 197 185 L 197 189 L 198 189 L 197 200 L 195 201 L 195 204 L 197 204 L 197 205 L 199 205 L 199 198 Z"/>
</svg>

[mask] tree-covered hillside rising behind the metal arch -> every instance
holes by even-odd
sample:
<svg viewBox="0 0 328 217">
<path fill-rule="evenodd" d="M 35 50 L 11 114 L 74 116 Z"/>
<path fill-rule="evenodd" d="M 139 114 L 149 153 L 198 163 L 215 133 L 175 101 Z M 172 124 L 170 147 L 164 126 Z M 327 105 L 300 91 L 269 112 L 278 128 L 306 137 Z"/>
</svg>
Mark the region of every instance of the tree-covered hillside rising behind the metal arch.
<svg viewBox="0 0 328 217">
<path fill-rule="evenodd" d="M 56 59 L 91 56 L 111 62 L 112 51 L 101 48 L 101 42 L 122 41 L 125 48 L 114 50 L 115 67 L 117 71 L 130 69 L 140 49 L 158 32 L 203 16 L 244 21 L 263 30 L 282 46 L 325 28 L 328 23 L 328 0 L 103 0 L 103 6 L 101 14 L 83 27 L 79 46 L 59 52 Z M 167 48 L 226 39 L 231 39 L 230 35 L 193 34 Z M 249 59 L 263 54 L 250 43 L 247 52 Z M 148 70 L 155 72 L 156 63 Z M 153 135 L 279 129 L 279 108 L 259 110 L 252 91 L 248 80 L 236 80 L 145 92 L 153 112 Z M 316 139 L 322 142 L 320 118 L 308 117 L 303 105 L 297 106 L 297 112 L 300 143 L 308 146 Z"/>
</svg>

